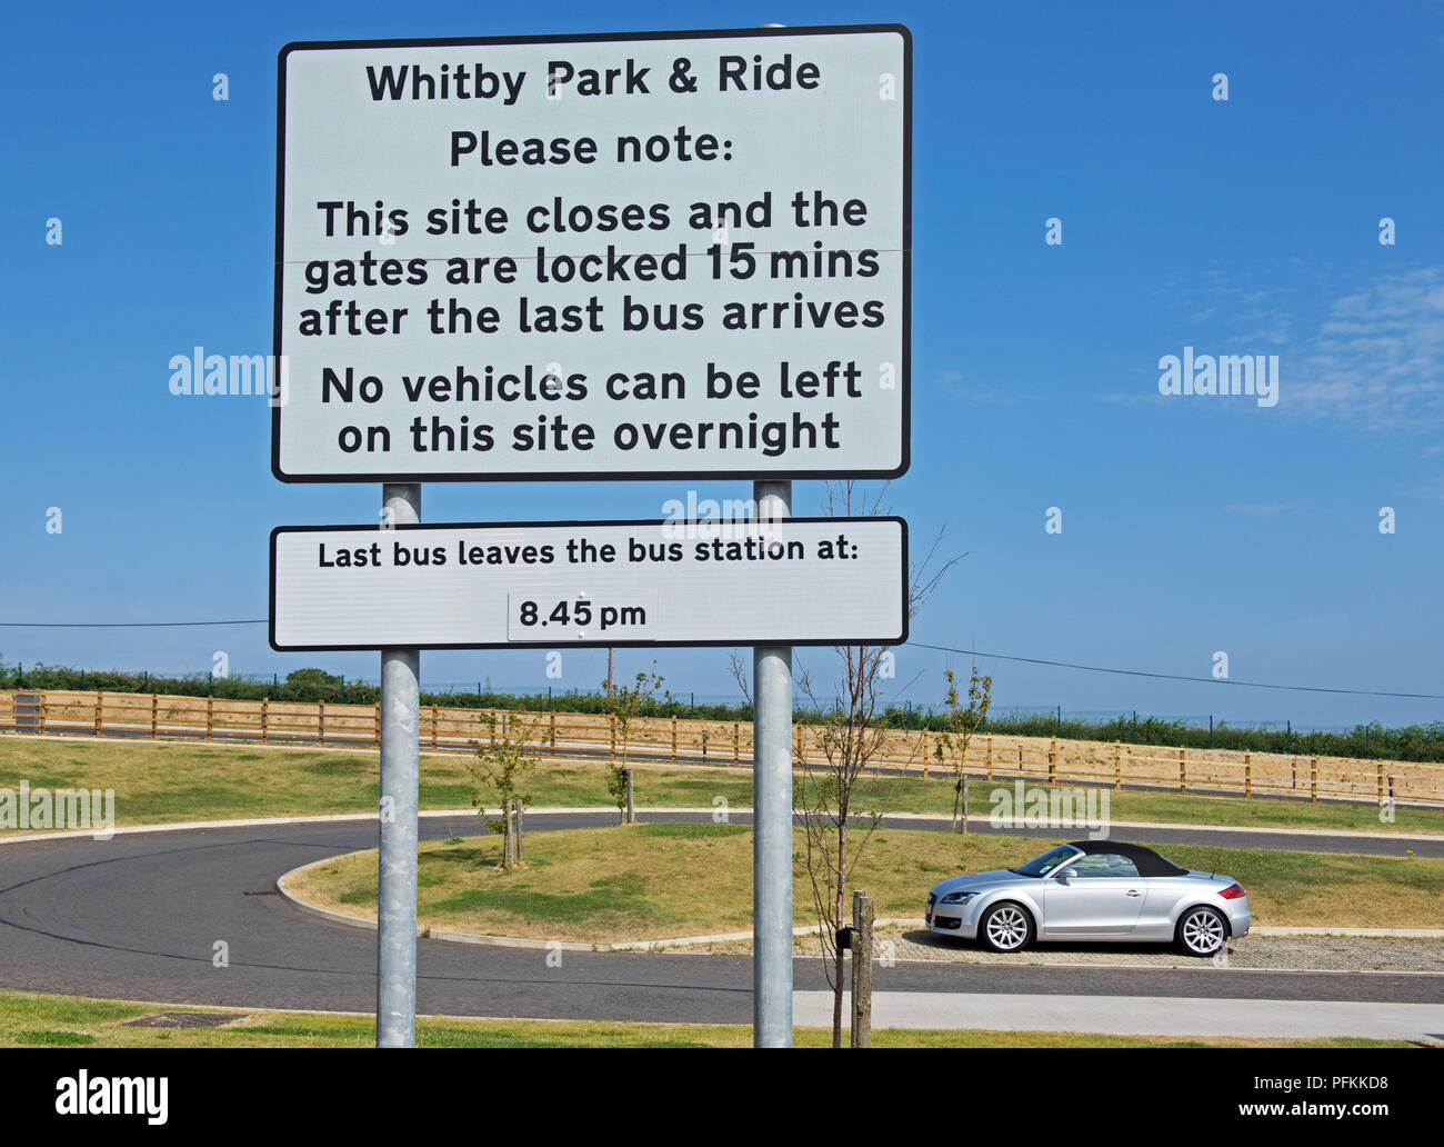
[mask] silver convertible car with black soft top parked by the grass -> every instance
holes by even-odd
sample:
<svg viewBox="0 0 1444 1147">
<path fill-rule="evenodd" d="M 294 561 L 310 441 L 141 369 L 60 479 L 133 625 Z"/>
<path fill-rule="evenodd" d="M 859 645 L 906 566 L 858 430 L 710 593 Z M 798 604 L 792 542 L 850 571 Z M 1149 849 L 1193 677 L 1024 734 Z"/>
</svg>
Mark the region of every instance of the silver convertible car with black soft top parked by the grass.
<svg viewBox="0 0 1444 1147">
<path fill-rule="evenodd" d="M 1074 841 L 1017 868 L 952 877 L 927 897 L 927 926 L 979 939 L 993 952 L 1034 940 L 1174 940 L 1212 956 L 1252 923 L 1233 877 L 1193 873 L 1149 848 Z"/>
</svg>

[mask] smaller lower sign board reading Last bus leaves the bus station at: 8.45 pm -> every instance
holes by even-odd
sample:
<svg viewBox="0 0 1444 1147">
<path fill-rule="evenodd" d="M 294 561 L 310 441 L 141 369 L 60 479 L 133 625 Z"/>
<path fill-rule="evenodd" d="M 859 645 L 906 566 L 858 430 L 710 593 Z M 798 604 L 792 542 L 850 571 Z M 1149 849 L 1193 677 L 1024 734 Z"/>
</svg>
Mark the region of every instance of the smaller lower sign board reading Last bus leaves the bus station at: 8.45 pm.
<svg viewBox="0 0 1444 1147">
<path fill-rule="evenodd" d="M 900 517 L 282 526 L 276 650 L 901 644 Z"/>
</svg>

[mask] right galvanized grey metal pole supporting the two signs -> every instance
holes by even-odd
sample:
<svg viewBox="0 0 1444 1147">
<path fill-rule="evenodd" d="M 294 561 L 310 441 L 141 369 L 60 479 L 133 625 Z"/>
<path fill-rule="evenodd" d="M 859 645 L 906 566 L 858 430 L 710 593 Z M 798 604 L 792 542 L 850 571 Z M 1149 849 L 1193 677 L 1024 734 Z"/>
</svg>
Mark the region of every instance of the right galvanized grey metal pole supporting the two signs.
<svg viewBox="0 0 1444 1147">
<path fill-rule="evenodd" d="M 752 484 L 757 516 L 791 514 L 793 484 Z M 752 1044 L 793 1046 L 793 650 L 752 649 Z"/>
</svg>

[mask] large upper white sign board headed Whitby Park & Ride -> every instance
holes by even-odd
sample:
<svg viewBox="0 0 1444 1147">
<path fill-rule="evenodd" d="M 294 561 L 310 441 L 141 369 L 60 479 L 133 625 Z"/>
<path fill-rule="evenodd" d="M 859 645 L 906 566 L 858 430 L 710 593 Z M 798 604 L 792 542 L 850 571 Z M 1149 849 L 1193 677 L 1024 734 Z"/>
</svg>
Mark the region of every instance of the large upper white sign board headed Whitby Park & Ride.
<svg viewBox="0 0 1444 1147">
<path fill-rule="evenodd" d="M 283 481 L 897 477 L 901 26 L 293 43 Z"/>
</svg>

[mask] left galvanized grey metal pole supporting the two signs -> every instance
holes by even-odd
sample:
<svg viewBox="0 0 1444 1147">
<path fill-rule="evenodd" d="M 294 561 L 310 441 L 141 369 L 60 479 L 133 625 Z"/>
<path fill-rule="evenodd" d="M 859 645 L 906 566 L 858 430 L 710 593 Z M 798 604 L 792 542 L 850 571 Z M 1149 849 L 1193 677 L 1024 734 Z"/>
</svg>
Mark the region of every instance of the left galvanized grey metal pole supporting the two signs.
<svg viewBox="0 0 1444 1147">
<path fill-rule="evenodd" d="M 383 526 L 422 520 L 422 487 L 381 487 Z M 416 806 L 422 653 L 381 650 L 381 851 L 377 883 L 375 1046 L 416 1046 Z"/>
</svg>

